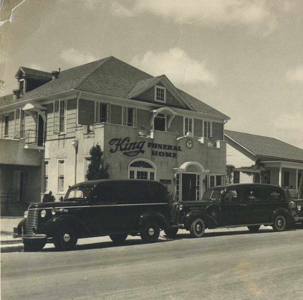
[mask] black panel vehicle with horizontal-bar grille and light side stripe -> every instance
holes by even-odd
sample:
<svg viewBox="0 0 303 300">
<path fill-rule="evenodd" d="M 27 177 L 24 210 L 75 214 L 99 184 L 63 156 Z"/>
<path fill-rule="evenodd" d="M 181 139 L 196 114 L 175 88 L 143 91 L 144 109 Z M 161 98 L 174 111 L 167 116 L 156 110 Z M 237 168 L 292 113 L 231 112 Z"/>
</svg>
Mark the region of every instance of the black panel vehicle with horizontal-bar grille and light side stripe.
<svg viewBox="0 0 303 300">
<path fill-rule="evenodd" d="M 109 235 L 123 242 L 140 234 L 155 242 L 160 230 L 170 230 L 168 192 L 152 180 L 92 180 L 73 185 L 63 202 L 32 203 L 14 238 L 26 251 L 39 251 L 46 242 L 59 250 L 75 247 L 78 238 Z"/>
</svg>

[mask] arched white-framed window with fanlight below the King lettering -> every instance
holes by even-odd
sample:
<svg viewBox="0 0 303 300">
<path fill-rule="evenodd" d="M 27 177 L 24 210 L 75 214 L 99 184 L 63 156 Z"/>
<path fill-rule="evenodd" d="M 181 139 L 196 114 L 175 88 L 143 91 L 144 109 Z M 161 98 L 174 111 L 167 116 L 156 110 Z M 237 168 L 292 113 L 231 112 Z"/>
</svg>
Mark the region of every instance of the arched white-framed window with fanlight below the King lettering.
<svg viewBox="0 0 303 300">
<path fill-rule="evenodd" d="M 155 180 L 156 170 L 153 162 L 136 159 L 128 165 L 128 178 Z"/>
</svg>

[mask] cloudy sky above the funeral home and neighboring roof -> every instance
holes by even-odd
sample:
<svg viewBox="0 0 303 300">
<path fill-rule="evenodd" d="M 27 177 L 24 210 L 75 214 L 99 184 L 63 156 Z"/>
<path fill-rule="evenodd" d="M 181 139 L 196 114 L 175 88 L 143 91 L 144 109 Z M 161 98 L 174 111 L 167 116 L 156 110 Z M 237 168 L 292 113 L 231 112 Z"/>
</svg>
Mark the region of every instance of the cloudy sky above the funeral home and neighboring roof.
<svg viewBox="0 0 303 300">
<path fill-rule="evenodd" d="M 0 96 L 20 66 L 113 55 L 228 115 L 225 129 L 303 148 L 302 0 L 0 1 Z"/>
</svg>

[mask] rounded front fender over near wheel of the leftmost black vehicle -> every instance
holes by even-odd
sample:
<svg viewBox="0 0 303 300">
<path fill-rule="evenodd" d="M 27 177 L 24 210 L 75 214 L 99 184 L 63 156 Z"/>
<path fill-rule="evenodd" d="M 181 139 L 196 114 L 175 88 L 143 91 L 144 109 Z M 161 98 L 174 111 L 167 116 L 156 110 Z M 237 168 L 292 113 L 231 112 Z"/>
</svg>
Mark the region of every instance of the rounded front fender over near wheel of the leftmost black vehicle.
<svg viewBox="0 0 303 300">
<path fill-rule="evenodd" d="M 79 221 L 73 215 L 58 215 L 54 216 L 44 224 L 44 231 L 48 236 L 52 236 L 59 227 L 72 226 L 78 232 L 79 237 L 89 235 L 88 227 L 81 221 Z"/>
</svg>

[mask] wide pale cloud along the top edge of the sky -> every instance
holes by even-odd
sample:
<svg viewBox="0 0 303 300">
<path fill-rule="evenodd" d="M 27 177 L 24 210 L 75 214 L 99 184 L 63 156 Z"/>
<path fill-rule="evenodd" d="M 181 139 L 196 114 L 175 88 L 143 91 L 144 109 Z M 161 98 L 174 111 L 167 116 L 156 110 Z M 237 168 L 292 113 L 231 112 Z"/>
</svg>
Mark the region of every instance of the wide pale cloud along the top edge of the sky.
<svg viewBox="0 0 303 300">
<path fill-rule="evenodd" d="M 190 3 L 184 0 L 136 0 L 134 3 L 132 8 L 126 8 L 115 2 L 116 9 L 113 12 L 124 16 L 149 12 L 176 23 L 189 22 L 197 26 L 245 25 L 249 32 L 262 36 L 270 34 L 278 25 L 275 5 L 268 5 L 265 0 L 209 0 Z"/>
</svg>

